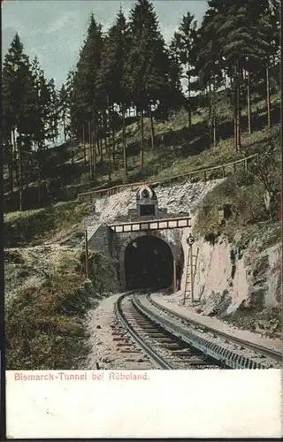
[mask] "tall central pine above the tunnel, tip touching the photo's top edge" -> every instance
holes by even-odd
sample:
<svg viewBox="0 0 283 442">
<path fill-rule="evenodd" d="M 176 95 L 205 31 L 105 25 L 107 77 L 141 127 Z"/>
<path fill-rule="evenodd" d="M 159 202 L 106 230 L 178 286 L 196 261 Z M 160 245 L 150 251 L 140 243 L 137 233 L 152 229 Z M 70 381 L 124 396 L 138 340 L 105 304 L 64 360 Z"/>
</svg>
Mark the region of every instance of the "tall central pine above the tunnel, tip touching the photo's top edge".
<svg viewBox="0 0 283 442">
<path fill-rule="evenodd" d="M 124 85 L 127 85 L 131 101 L 141 118 L 140 168 L 143 166 L 143 117 L 149 113 L 152 133 L 151 108 L 164 98 L 164 89 L 169 85 L 169 60 L 164 48 L 164 38 L 159 30 L 157 14 L 149 0 L 138 0 L 129 17 L 131 50 L 124 65 Z"/>
</svg>

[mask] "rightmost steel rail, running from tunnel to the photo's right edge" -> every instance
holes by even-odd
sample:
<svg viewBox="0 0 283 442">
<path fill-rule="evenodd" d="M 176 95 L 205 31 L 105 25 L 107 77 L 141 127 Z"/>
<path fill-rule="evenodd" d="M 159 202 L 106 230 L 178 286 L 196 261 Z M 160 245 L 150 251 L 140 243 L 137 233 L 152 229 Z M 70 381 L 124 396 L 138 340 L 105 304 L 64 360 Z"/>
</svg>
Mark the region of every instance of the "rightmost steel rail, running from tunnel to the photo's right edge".
<svg viewBox="0 0 283 442">
<path fill-rule="evenodd" d="M 257 353 L 264 354 L 265 356 L 270 357 L 277 362 L 282 362 L 283 355 L 282 355 L 282 353 L 280 353 L 277 350 L 272 350 L 272 348 L 267 348 L 267 347 L 260 346 L 258 344 L 253 344 L 253 343 L 246 341 L 244 339 L 231 336 L 230 334 L 226 333 L 225 331 L 218 331 L 218 330 L 214 329 L 213 327 L 200 324 L 197 321 L 195 321 L 194 319 L 188 319 L 186 316 L 183 316 L 180 313 L 174 312 L 171 309 L 167 309 L 166 307 L 161 306 L 160 304 L 158 304 L 157 301 L 153 301 L 150 294 L 147 295 L 147 299 L 157 309 L 164 310 L 165 312 L 169 313 L 170 315 L 178 317 L 180 320 L 186 322 L 187 324 L 193 324 L 199 328 L 205 329 L 206 331 L 212 332 L 212 333 L 218 335 L 219 337 L 230 341 L 231 343 L 240 344 L 242 347 L 246 347 L 246 348 L 249 348 L 250 350 L 253 350 Z"/>
</svg>

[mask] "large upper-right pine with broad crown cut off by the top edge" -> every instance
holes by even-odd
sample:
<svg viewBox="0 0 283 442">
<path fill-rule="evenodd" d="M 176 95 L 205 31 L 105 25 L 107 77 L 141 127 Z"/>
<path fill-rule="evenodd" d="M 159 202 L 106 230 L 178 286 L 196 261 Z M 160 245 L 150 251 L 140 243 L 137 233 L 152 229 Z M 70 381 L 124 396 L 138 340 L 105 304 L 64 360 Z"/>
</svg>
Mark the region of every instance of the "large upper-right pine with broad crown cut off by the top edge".
<svg viewBox="0 0 283 442">
<path fill-rule="evenodd" d="M 249 70 L 248 102 L 250 108 L 250 68 L 263 62 L 268 43 L 266 34 L 260 26 L 260 17 L 267 7 L 267 0 L 209 0 L 210 9 L 203 19 L 203 35 L 213 35 L 214 40 L 204 39 L 203 59 L 208 57 L 210 65 L 213 54 L 214 63 L 226 71 L 231 79 L 234 106 L 234 140 L 236 149 L 241 149 L 241 105 L 245 85 L 243 72 Z M 259 7 L 260 6 L 260 7 Z M 266 9 L 265 9 L 266 12 Z M 202 35 L 202 37 L 203 37 Z M 213 48 L 214 50 L 211 50 Z M 255 67 L 254 67 L 255 68 Z M 250 114 L 249 114 L 250 124 Z"/>
</svg>

